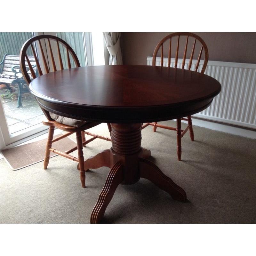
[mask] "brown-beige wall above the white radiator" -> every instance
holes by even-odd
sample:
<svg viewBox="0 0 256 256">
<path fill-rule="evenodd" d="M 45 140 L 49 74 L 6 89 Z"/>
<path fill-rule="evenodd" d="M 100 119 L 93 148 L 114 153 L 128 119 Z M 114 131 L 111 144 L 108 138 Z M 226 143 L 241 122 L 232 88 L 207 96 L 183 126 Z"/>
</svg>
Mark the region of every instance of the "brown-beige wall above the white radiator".
<svg viewBox="0 0 256 256">
<path fill-rule="evenodd" d="M 147 65 L 147 57 L 153 55 L 156 44 L 170 33 L 172 32 L 122 33 L 121 47 L 124 64 Z M 209 60 L 256 63 L 256 33 L 196 34 L 205 41 Z"/>
</svg>

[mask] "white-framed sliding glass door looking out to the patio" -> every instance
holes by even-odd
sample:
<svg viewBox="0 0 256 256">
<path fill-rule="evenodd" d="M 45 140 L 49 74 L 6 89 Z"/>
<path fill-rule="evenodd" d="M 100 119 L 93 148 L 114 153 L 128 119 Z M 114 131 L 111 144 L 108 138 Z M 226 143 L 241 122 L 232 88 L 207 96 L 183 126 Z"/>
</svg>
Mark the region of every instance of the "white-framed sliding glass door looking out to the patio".
<svg viewBox="0 0 256 256">
<path fill-rule="evenodd" d="M 76 52 L 81 66 L 92 66 L 94 63 L 104 65 L 102 33 L 0 33 L 0 133 L 4 140 L 1 142 L 0 136 L 0 148 L 3 148 L 3 144 L 7 146 L 31 136 L 35 137 L 48 129 L 41 122 L 44 119 L 43 112 L 29 92 L 25 81 L 15 83 L 16 78 L 22 77 L 18 72 L 22 45 L 32 36 L 40 34 L 51 34 L 65 40 Z M 48 52 L 47 44 L 43 47 Z M 33 55 L 32 52 L 29 55 Z M 63 66 L 67 68 L 65 61 Z"/>
</svg>

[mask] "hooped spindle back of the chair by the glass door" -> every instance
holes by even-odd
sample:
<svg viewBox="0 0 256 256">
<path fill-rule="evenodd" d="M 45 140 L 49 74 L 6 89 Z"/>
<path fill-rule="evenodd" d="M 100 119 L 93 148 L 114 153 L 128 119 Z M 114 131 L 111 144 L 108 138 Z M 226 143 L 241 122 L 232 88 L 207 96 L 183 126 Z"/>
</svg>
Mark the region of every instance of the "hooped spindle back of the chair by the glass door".
<svg viewBox="0 0 256 256">
<path fill-rule="evenodd" d="M 43 46 L 42 46 L 42 42 L 41 39 L 44 39 L 44 44 L 45 47 L 48 47 L 48 49 L 50 50 L 50 57 L 51 60 L 49 60 L 49 62 L 47 61 L 47 58 L 45 56 L 45 52 L 43 50 Z M 58 62 L 55 61 L 53 53 L 52 53 L 52 44 L 51 41 L 55 41 L 57 43 L 57 51 L 58 51 Z M 38 47 L 36 49 L 35 47 L 35 43 L 38 43 Z M 34 44 L 34 45 L 33 45 Z M 23 77 L 26 81 L 26 83 L 29 85 L 31 82 L 31 79 L 36 78 L 36 75 L 41 76 L 43 75 L 43 68 L 44 67 L 44 72 L 50 73 L 50 62 L 52 64 L 52 70 L 53 71 L 57 71 L 56 68 L 56 64 L 58 63 L 60 66 L 60 69 L 63 70 L 63 60 L 62 60 L 62 56 L 60 53 L 60 44 L 66 48 L 66 57 L 67 57 L 67 63 L 68 63 L 68 68 L 71 68 L 71 61 L 70 61 L 70 55 L 72 56 L 72 59 L 75 63 L 76 67 L 80 67 L 80 63 L 79 60 L 76 56 L 76 53 L 74 52 L 74 50 L 71 48 L 71 46 L 65 42 L 64 40 L 62 40 L 61 38 L 57 37 L 57 36 L 51 36 L 51 35 L 40 35 L 40 36 L 35 36 L 32 37 L 30 39 L 28 39 L 22 46 L 21 50 L 20 50 L 20 68 L 21 68 L 21 72 L 23 74 Z M 26 54 L 28 48 L 31 48 L 32 53 L 33 53 L 33 57 L 35 58 L 35 62 L 36 62 L 36 67 L 32 66 L 31 62 L 30 62 L 30 58 L 31 56 L 28 56 Z M 41 58 L 42 58 L 42 62 L 43 65 L 41 67 L 41 65 L 39 64 L 39 60 L 38 60 L 38 55 L 36 54 L 38 53 L 38 55 L 40 54 Z M 50 58 L 49 58 L 50 59 Z M 47 64 L 48 63 L 48 64 Z"/>
</svg>

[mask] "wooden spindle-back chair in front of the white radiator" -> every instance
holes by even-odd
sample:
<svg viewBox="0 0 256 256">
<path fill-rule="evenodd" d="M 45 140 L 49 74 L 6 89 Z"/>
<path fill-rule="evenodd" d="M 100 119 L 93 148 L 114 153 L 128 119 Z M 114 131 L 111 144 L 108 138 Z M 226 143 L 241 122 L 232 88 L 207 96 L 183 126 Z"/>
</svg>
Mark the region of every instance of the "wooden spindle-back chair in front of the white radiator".
<svg viewBox="0 0 256 256">
<path fill-rule="evenodd" d="M 177 39 L 175 40 L 177 43 L 176 47 L 173 47 L 173 38 Z M 182 59 L 182 64 L 180 63 L 180 68 L 184 69 L 184 67 L 186 66 L 188 70 L 191 70 L 192 66 L 195 66 L 195 71 L 198 72 L 198 68 L 199 68 L 199 63 L 202 57 L 202 53 L 204 51 L 204 64 L 203 67 L 201 69 L 201 73 L 204 74 L 204 71 L 206 69 L 207 66 L 207 62 L 208 62 L 208 49 L 207 46 L 204 42 L 204 40 L 197 36 L 196 34 L 193 33 L 172 33 L 168 36 L 165 36 L 157 45 L 155 48 L 155 51 L 153 53 L 153 60 L 152 60 L 152 66 L 156 66 L 156 55 L 159 51 L 159 49 L 161 48 L 161 59 L 160 59 L 160 65 L 161 67 L 164 66 L 164 43 L 167 44 L 167 46 L 169 46 L 169 51 L 168 51 L 168 63 L 167 63 L 167 67 L 171 67 L 171 56 L 172 56 L 172 49 L 176 49 L 175 52 L 175 60 L 174 60 L 174 68 L 177 68 L 178 66 L 178 58 L 179 58 L 179 48 L 180 48 L 180 43 L 181 43 L 181 38 L 184 38 L 184 43 L 185 43 L 185 49 L 184 49 L 184 53 L 183 53 L 183 59 Z M 191 38 L 192 38 L 192 42 L 191 42 Z M 192 43 L 192 44 L 189 44 Z M 199 48 L 196 47 L 198 46 L 199 43 Z M 186 57 L 187 57 L 187 52 L 188 52 L 188 45 L 191 46 L 191 54 L 190 54 L 190 59 L 189 62 L 186 61 Z M 195 54 L 195 49 L 198 48 L 198 57 L 197 57 L 197 61 L 196 64 L 192 64 L 193 61 L 193 57 L 196 55 Z M 185 120 L 188 122 L 188 126 L 182 130 L 181 129 L 181 120 Z M 173 131 L 177 131 L 177 155 L 178 155 L 178 160 L 181 160 L 181 138 L 184 136 L 184 134 L 189 130 L 189 134 L 190 134 L 190 138 L 192 141 L 194 141 L 194 132 L 193 132 L 193 127 L 192 127 L 192 121 L 191 121 L 191 116 L 187 116 L 187 118 L 178 118 L 176 119 L 176 124 L 177 127 L 171 127 L 171 126 L 166 126 L 166 125 L 161 125 L 161 124 L 157 124 L 157 122 L 154 123 L 147 123 L 144 124 L 142 126 L 142 129 L 147 127 L 148 125 L 152 125 L 153 127 L 153 131 L 156 132 L 156 128 L 160 127 L 160 128 L 164 128 L 164 129 L 168 129 L 168 130 L 173 130 Z"/>
</svg>

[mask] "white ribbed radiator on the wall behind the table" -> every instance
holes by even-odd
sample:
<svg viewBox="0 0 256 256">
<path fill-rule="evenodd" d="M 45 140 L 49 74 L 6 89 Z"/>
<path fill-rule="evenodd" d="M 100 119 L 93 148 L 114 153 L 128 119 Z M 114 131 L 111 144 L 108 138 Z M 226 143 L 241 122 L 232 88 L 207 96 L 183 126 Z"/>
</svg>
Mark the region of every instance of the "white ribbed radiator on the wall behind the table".
<svg viewBox="0 0 256 256">
<path fill-rule="evenodd" d="M 156 58 L 157 66 L 160 60 Z M 171 59 L 171 67 L 174 61 Z M 191 70 L 195 70 L 196 61 L 193 60 Z M 164 66 L 167 62 L 168 58 L 164 58 Z M 185 69 L 188 62 L 186 60 Z M 199 72 L 203 62 L 200 62 Z M 181 63 L 179 59 L 178 68 Z M 147 65 L 152 65 L 152 57 L 147 58 Z M 204 74 L 220 82 L 221 92 L 208 108 L 193 116 L 256 129 L 256 64 L 209 60 Z"/>
</svg>

